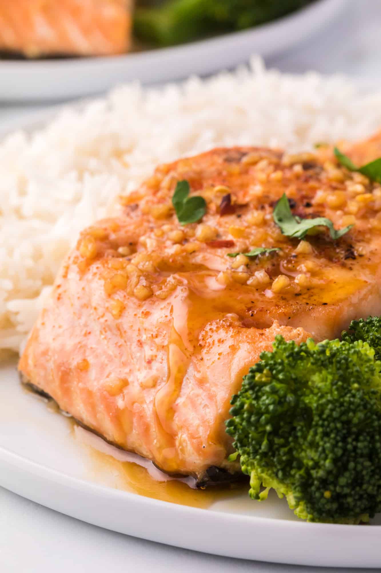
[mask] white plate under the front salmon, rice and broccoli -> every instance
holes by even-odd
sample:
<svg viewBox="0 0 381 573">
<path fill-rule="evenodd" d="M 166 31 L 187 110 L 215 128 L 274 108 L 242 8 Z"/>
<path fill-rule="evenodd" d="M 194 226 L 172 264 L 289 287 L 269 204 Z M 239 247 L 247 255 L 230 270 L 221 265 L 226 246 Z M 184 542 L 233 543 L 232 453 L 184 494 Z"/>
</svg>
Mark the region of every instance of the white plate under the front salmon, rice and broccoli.
<svg viewBox="0 0 381 573">
<path fill-rule="evenodd" d="M 100 464 L 92 452 L 68 419 L 21 387 L 15 363 L 0 368 L 3 487 L 88 523 L 177 547 L 277 563 L 381 566 L 381 516 L 365 527 L 304 523 L 275 494 L 259 504 L 237 493 L 208 509 L 158 501 L 117 489 L 117 465 Z"/>
</svg>

